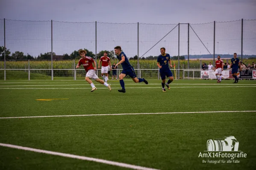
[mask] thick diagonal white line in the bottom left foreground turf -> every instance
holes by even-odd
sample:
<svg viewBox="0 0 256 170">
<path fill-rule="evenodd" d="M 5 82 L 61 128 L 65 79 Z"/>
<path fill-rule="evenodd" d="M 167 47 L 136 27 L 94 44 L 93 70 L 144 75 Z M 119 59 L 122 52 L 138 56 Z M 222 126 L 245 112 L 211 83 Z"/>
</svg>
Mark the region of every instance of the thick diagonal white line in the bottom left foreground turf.
<svg viewBox="0 0 256 170">
<path fill-rule="evenodd" d="M 135 169 L 135 170 L 157 170 L 157 169 L 153 169 L 153 168 L 141 167 L 141 166 L 125 164 L 125 163 L 121 163 L 121 162 L 108 161 L 108 160 L 104 160 L 104 159 L 97 159 L 97 158 L 91 158 L 91 157 L 86 157 L 86 156 L 78 156 L 78 155 L 73 155 L 73 154 L 68 154 L 68 153 L 53 152 L 53 151 L 49 151 L 49 150 L 41 150 L 41 149 L 35 149 L 35 148 L 31 148 L 31 147 L 23 147 L 23 146 L 18 146 L 18 145 L 13 145 L 13 144 L 0 143 L 0 146 L 11 147 L 11 148 L 21 149 L 21 150 L 28 150 L 28 151 L 37 152 L 37 153 L 45 153 L 45 154 L 49 154 L 49 155 L 63 156 L 63 157 L 67 157 L 67 158 L 81 159 L 81 160 L 86 160 L 86 161 L 94 161 L 94 162 L 110 164 L 110 165 L 114 165 L 114 166 L 118 166 L 118 167 L 131 168 L 131 169 Z"/>
</svg>

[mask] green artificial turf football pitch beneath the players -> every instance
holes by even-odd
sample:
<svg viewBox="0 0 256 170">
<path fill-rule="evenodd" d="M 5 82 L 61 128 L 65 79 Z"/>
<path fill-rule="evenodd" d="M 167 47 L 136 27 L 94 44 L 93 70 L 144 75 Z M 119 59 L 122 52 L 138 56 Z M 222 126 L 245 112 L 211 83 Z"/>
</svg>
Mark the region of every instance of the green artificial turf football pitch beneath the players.
<svg viewBox="0 0 256 170">
<path fill-rule="evenodd" d="M 160 80 L 148 82 L 125 79 L 123 94 L 117 80 L 109 80 L 111 92 L 97 82 L 97 91 L 90 92 L 85 80 L 0 81 L 0 143 L 146 170 L 256 168 L 256 81 L 174 80 L 165 93 Z M 224 136 L 235 136 L 247 157 L 235 158 L 239 163 L 203 163 L 232 160 L 199 157 L 207 140 Z M 0 146 L 0 169 L 127 168 Z"/>
</svg>

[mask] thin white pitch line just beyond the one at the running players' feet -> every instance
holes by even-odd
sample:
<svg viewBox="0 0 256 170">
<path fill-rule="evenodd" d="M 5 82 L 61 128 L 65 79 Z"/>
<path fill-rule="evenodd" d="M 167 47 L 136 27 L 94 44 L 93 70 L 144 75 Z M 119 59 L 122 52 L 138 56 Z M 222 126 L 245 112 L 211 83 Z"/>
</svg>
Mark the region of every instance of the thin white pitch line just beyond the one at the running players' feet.
<svg viewBox="0 0 256 170">
<path fill-rule="evenodd" d="M 111 85 L 120 85 L 120 83 L 109 83 Z M 160 83 L 152 83 L 148 85 L 159 85 Z M 71 85 L 0 85 L 0 87 L 29 87 L 29 86 L 76 86 L 76 85 L 89 85 L 86 84 L 71 84 Z M 125 83 L 125 85 L 146 85 L 144 83 Z M 161 85 L 161 84 L 160 84 Z M 178 84 L 171 83 L 171 85 L 256 85 L 256 84 Z"/>
</svg>

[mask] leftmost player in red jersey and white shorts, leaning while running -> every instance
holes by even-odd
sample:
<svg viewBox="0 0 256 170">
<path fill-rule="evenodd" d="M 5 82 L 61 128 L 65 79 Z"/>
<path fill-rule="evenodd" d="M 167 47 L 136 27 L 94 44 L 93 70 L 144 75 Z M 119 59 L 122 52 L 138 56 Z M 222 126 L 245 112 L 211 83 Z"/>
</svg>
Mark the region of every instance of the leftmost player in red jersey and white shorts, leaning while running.
<svg viewBox="0 0 256 170">
<path fill-rule="evenodd" d="M 91 78 L 94 79 L 96 82 L 99 82 L 99 83 L 105 85 L 106 87 L 109 88 L 109 91 L 111 91 L 111 85 L 107 84 L 103 80 L 99 79 L 99 77 L 97 77 L 97 75 L 95 74 L 96 62 L 91 57 L 85 56 L 86 53 L 87 52 L 85 50 L 79 50 L 79 55 L 82 58 L 79 59 L 79 62 L 77 64 L 76 68 L 79 68 L 80 65 L 84 66 L 85 71 L 87 72 L 86 76 L 85 76 L 85 80 L 91 85 L 91 87 L 92 87 L 91 92 L 97 90 L 97 88 L 95 87 L 93 82 L 90 80 Z M 94 64 L 94 66 L 92 65 L 92 63 Z"/>
</svg>

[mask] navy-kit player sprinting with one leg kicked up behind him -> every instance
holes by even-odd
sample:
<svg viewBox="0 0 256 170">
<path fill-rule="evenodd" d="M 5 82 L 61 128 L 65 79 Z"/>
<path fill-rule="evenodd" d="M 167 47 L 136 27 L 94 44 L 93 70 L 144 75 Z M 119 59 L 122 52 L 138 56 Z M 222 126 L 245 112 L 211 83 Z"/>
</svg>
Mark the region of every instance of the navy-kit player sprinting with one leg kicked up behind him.
<svg viewBox="0 0 256 170">
<path fill-rule="evenodd" d="M 146 79 L 144 79 L 144 78 L 142 78 L 142 79 L 141 78 L 137 78 L 132 65 L 130 65 L 129 60 L 127 59 L 127 57 L 124 54 L 124 52 L 122 52 L 122 49 L 121 49 L 120 46 L 116 46 L 115 47 L 115 54 L 117 55 L 117 58 L 119 60 L 119 62 L 115 65 L 115 68 L 119 64 L 121 64 L 122 67 L 123 67 L 123 71 L 119 75 L 119 82 L 120 82 L 120 85 L 122 87 L 121 90 L 118 90 L 119 92 L 125 93 L 124 80 L 123 79 L 127 75 L 129 75 L 135 83 L 137 83 L 137 82 L 144 82 L 145 84 L 148 84 Z"/>
</svg>

